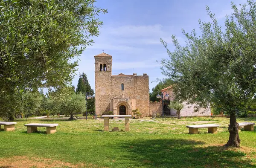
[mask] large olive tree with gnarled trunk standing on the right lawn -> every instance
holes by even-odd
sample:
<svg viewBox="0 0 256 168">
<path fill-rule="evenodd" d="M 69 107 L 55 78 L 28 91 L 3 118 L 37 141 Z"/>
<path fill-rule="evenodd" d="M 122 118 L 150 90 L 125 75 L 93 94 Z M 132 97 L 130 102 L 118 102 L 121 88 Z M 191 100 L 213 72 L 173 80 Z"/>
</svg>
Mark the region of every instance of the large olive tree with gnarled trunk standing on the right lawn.
<svg viewBox="0 0 256 168">
<path fill-rule="evenodd" d="M 199 20 L 200 35 L 183 30 L 184 46 L 173 35 L 174 51 L 161 39 L 169 58 L 160 63 L 175 83 L 176 99 L 198 107 L 212 103 L 230 115 L 226 145 L 239 147 L 237 114 L 256 93 L 256 3 L 247 1 L 240 9 L 232 3 L 232 9 L 222 28 L 207 6 L 212 22 Z"/>
</svg>

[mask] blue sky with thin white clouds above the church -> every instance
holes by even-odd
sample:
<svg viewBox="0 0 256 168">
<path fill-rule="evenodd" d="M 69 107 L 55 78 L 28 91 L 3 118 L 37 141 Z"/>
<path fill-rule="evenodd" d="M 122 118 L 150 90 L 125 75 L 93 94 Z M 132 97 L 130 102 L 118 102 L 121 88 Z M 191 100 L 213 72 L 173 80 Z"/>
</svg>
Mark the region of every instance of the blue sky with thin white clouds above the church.
<svg viewBox="0 0 256 168">
<path fill-rule="evenodd" d="M 77 75 L 73 84 L 77 87 L 79 72 L 85 72 L 93 90 L 94 55 L 104 52 L 112 55 L 112 74 L 124 73 L 149 75 L 149 89 L 157 84 L 156 78 L 164 78 L 157 60 L 167 58 L 166 49 L 160 43 L 163 38 L 171 51 L 174 50 L 171 36 L 176 35 L 181 44 L 185 38 L 181 29 L 190 32 L 199 30 L 198 19 L 210 21 L 206 5 L 223 24 L 225 15 L 233 12 L 229 0 L 98 0 L 97 7 L 108 9 L 99 15 L 104 22 L 99 37 L 93 38 L 93 46 L 79 57 Z M 233 0 L 237 5 L 246 0 Z"/>
</svg>

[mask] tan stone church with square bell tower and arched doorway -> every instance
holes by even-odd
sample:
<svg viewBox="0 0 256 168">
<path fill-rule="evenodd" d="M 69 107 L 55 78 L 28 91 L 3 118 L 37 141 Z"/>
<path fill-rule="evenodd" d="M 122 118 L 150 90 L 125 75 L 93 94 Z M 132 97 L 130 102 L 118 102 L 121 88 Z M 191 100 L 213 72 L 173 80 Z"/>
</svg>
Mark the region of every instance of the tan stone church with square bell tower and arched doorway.
<svg viewBox="0 0 256 168">
<path fill-rule="evenodd" d="M 95 55 L 95 110 L 101 116 L 105 111 L 114 115 L 128 115 L 138 108 L 149 115 L 148 75 L 112 75 L 112 56 L 102 52 Z"/>
</svg>

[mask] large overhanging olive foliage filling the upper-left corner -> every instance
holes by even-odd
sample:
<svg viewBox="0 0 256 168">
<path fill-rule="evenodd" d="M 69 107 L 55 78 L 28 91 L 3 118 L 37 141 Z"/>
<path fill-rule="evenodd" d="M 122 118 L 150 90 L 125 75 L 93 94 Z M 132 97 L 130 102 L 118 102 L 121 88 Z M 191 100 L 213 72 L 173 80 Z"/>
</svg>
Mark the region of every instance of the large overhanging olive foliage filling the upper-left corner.
<svg viewBox="0 0 256 168">
<path fill-rule="evenodd" d="M 95 0 L 0 1 L 0 116 L 14 117 L 21 92 L 70 84 L 77 57 L 99 35 Z"/>
</svg>

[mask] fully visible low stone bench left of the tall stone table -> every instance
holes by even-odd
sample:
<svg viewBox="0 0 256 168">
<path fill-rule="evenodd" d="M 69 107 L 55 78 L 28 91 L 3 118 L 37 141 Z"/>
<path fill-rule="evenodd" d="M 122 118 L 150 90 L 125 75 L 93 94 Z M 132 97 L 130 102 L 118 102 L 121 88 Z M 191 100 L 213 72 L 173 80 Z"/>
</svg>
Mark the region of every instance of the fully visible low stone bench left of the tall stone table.
<svg viewBox="0 0 256 168">
<path fill-rule="evenodd" d="M 27 127 L 27 133 L 37 131 L 37 127 L 46 127 L 46 133 L 51 134 L 56 132 L 56 127 L 58 124 L 31 123 L 26 124 L 25 126 Z"/>
</svg>

